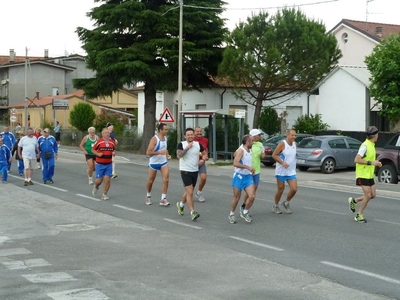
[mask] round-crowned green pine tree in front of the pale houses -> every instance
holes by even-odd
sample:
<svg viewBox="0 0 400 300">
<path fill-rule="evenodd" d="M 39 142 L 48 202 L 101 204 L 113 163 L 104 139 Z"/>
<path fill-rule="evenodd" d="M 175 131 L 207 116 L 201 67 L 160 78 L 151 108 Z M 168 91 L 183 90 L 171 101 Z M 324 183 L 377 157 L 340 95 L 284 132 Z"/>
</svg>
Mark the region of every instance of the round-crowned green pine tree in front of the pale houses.
<svg viewBox="0 0 400 300">
<path fill-rule="evenodd" d="M 253 128 L 258 128 L 264 101 L 307 91 L 340 56 L 325 25 L 285 8 L 275 16 L 260 12 L 239 23 L 228 36 L 219 74 L 235 87 L 237 98 L 255 106 Z"/>
</svg>

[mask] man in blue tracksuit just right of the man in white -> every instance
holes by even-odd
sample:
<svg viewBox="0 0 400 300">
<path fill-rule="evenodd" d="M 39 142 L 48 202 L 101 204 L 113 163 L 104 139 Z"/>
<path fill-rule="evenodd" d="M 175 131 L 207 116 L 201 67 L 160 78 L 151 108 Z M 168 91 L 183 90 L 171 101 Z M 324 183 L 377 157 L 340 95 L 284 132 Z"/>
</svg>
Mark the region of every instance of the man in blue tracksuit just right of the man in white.
<svg viewBox="0 0 400 300">
<path fill-rule="evenodd" d="M 58 145 L 54 136 L 50 135 L 50 129 L 45 128 L 43 135 L 38 139 L 40 157 L 42 158 L 43 183 L 54 183 L 55 160 L 58 158 Z"/>
</svg>

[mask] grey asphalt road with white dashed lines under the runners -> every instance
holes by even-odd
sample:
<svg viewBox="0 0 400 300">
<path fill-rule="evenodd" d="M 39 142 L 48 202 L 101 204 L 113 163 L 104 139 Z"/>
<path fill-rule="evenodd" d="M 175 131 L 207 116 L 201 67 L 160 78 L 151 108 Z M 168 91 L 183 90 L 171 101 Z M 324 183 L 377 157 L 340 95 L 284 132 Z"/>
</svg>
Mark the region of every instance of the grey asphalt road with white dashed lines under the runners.
<svg viewBox="0 0 400 300">
<path fill-rule="evenodd" d="M 275 215 L 273 170 L 263 168 L 253 223 L 237 213 L 238 223 L 229 224 L 232 167 L 209 166 L 206 202 L 195 203 L 201 217 L 192 222 L 188 211 L 184 216 L 176 211 L 183 193 L 176 162 L 170 164 L 171 206 L 157 205 L 159 176 L 153 205 L 146 206 L 145 157 L 118 157 L 119 177 L 112 181 L 110 200 L 100 201 L 100 191 L 98 197 L 91 195 L 86 163 L 76 152 L 61 148 L 54 185 L 27 189 L 11 175 L 5 186 L 9 196 L 1 193 L 0 231 L 10 239 L 0 237 L 1 299 L 75 299 L 60 298 L 60 287 L 49 288 L 49 283 L 24 285 L 24 274 L 18 277 L 4 268 L 16 260 L 1 252 L 13 243 L 18 245 L 12 249 L 26 244 L 43 254 L 53 271 L 67 269 L 86 282 L 78 288 L 82 295 L 93 293 L 88 299 L 400 299 L 396 185 L 378 186 L 378 197 L 365 212 L 368 223 L 358 224 L 347 205 L 347 198 L 360 192 L 353 185 L 354 172 L 311 170 L 298 174 L 293 213 Z M 34 180 L 40 182 L 36 170 Z M 24 195 L 18 207 L 7 201 L 13 190 Z M 62 282 L 63 291 L 76 289 L 74 280 Z M 93 290 L 84 290 L 87 286 Z"/>
</svg>

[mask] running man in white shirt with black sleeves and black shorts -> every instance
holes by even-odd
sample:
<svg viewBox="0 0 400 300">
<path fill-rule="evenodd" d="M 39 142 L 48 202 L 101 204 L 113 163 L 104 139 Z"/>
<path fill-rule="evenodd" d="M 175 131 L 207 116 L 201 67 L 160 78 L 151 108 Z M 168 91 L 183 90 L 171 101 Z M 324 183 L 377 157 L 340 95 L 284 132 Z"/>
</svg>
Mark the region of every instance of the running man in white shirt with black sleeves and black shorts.
<svg viewBox="0 0 400 300">
<path fill-rule="evenodd" d="M 203 146 L 199 142 L 194 141 L 193 128 L 186 128 L 185 141 L 178 144 L 176 155 L 179 158 L 179 170 L 185 187 L 185 193 L 182 195 L 182 200 L 176 203 L 178 213 L 183 216 L 185 204 L 187 203 L 190 209 L 192 221 L 197 220 L 200 214 L 194 210 L 193 191 L 196 186 L 197 177 L 199 175 L 199 164 L 204 164 L 207 154 Z M 199 161 L 199 153 L 203 155 L 203 159 Z"/>
</svg>

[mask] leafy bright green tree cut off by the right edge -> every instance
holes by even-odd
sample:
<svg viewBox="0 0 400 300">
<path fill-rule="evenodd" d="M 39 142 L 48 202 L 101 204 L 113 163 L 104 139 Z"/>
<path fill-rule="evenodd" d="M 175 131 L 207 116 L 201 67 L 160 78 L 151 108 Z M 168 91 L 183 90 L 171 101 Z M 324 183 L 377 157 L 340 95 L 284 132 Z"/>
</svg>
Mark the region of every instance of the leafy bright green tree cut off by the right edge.
<svg viewBox="0 0 400 300">
<path fill-rule="evenodd" d="M 392 122 L 400 120 L 400 33 L 376 46 L 365 59 L 371 72 L 371 97 L 381 105 L 380 114 Z"/>
</svg>

